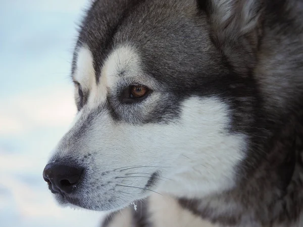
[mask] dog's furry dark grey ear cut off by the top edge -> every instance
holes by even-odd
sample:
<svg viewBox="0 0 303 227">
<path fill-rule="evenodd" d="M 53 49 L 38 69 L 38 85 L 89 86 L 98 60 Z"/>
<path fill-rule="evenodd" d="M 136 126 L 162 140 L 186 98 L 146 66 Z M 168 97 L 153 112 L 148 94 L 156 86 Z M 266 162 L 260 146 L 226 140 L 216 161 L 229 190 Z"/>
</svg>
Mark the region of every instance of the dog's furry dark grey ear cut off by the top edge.
<svg viewBox="0 0 303 227">
<path fill-rule="evenodd" d="M 262 33 L 262 0 L 197 0 L 207 13 L 212 38 L 234 69 L 253 70 Z"/>
</svg>

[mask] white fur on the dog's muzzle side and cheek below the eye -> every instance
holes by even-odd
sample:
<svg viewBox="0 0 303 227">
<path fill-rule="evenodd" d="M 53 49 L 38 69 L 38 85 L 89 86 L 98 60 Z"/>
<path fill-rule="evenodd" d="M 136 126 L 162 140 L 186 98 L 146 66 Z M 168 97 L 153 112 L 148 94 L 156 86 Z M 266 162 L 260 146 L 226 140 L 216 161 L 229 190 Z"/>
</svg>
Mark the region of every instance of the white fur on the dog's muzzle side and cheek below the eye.
<svg viewBox="0 0 303 227">
<path fill-rule="evenodd" d="M 203 198 L 231 188 L 235 166 L 244 157 L 245 136 L 228 133 L 229 111 L 215 97 L 192 97 L 182 103 L 181 117 L 171 124 L 130 125 L 115 122 L 107 111 L 98 113 L 83 137 L 75 141 L 77 150 L 69 154 L 79 160 L 91 155 L 81 162 L 87 165 L 88 174 L 80 192 L 85 198 L 79 199 L 85 199 L 90 209 L 121 208 L 144 197 L 140 188 L 155 172 L 160 177 L 150 189 L 156 192 Z M 82 113 L 61 148 L 73 140 L 72 132 L 85 124 L 81 121 L 88 114 Z"/>
</svg>

